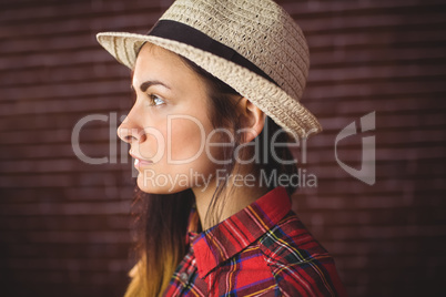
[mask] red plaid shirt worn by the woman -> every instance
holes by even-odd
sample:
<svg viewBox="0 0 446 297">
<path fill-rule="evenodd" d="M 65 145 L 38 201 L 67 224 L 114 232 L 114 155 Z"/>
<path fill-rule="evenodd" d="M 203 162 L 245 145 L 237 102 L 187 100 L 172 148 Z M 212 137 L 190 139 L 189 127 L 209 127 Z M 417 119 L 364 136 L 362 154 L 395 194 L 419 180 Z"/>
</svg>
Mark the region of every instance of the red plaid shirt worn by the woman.
<svg viewBox="0 0 446 297">
<path fill-rule="evenodd" d="M 193 211 L 189 253 L 164 296 L 346 296 L 333 258 L 283 187 L 201 234 L 196 224 Z"/>
</svg>

